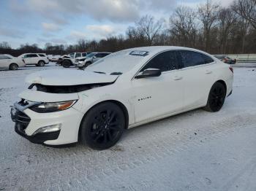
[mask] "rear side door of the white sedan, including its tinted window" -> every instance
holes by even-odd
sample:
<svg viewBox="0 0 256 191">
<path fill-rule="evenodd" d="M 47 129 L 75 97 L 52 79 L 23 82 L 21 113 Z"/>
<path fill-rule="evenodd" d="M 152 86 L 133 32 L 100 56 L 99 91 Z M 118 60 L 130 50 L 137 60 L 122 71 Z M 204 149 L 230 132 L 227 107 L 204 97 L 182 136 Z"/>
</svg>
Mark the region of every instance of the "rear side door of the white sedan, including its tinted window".
<svg viewBox="0 0 256 191">
<path fill-rule="evenodd" d="M 215 61 L 201 52 L 180 50 L 182 76 L 184 77 L 184 109 L 203 106 L 214 84 Z"/>
</svg>

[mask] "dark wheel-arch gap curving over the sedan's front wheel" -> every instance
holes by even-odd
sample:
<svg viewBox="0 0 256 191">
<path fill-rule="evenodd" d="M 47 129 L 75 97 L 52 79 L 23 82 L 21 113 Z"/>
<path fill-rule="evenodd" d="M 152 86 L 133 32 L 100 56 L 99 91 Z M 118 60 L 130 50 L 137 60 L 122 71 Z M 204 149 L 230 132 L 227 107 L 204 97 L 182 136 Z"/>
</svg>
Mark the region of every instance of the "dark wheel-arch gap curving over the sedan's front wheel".
<svg viewBox="0 0 256 191">
<path fill-rule="evenodd" d="M 82 125 L 83 119 L 86 117 L 86 114 L 88 114 L 88 112 L 91 111 L 91 109 L 93 109 L 95 106 L 98 106 L 99 104 L 103 104 L 103 103 L 113 103 L 113 104 L 116 104 L 117 106 L 119 106 L 120 109 L 124 112 L 125 129 L 128 128 L 128 125 L 129 125 L 129 114 L 128 114 L 127 107 L 124 106 L 124 104 L 122 104 L 120 101 L 116 101 L 116 100 L 105 100 L 105 101 L 101 101 L 101 102 L 95 104 L 94 106 L 91 106 L 91 108 L 88 109 L 88 111 L 83 115 L 83 118 L 82 118 L 82 120 L 80 121 L 79 130 L 78 130 L 78 141 L 80 141 L 81 125 Z"/>
</svg>

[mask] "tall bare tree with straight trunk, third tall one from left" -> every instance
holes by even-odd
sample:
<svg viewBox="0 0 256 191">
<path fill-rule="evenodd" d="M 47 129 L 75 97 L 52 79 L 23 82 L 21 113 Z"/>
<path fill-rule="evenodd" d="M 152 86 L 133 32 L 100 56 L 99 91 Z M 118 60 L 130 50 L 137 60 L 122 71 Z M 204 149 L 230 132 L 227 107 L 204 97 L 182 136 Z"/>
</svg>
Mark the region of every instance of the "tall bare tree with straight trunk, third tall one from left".
<svg viewBox="0 0 256 191">
<path fill-rule="evenodd" d="M 205 41 L 205 50 L 210 49 L 211 28 L 217 22 L 219 5 L 213 4 L 207 0 L 206 4 L 201 4 L 197 10 L 197 17 L 203 23 L 203 36 Z"/>
</svg>

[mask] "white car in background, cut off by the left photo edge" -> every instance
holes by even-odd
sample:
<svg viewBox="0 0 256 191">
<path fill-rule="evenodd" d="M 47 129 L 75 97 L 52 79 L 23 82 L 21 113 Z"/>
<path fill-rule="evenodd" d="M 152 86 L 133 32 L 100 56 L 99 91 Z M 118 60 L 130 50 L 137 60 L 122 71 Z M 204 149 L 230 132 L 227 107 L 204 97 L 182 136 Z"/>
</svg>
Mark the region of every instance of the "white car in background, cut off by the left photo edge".
<svg viewBox="0 0 256 191">
<path fill-rule="evenodd" d="M 24 67 L 25 63 L 20 58 L 12 55 L 0 55 L 1 70 L 17 70 L 19 67 Z"/>
</svg>

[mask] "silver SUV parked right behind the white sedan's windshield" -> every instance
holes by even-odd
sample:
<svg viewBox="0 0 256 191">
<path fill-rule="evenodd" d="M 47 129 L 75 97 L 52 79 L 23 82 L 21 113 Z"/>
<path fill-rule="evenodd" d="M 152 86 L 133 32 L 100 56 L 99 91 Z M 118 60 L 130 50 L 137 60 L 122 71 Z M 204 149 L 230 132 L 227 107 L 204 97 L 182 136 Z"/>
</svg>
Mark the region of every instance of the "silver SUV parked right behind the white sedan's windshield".
<svg viewBox="0 0 256 191">
<path fill-rule="evenodd" d="M 87 66 L 91 65 L 91 63 L 99 61 L 99 59 L 110 54 L 111 52 L 91 52 L 91 54 L 86 56 L 86 59 L 80 59 L 80 61 L 78 61 L 78 68 L 85 69 Z"/>
</svg>

